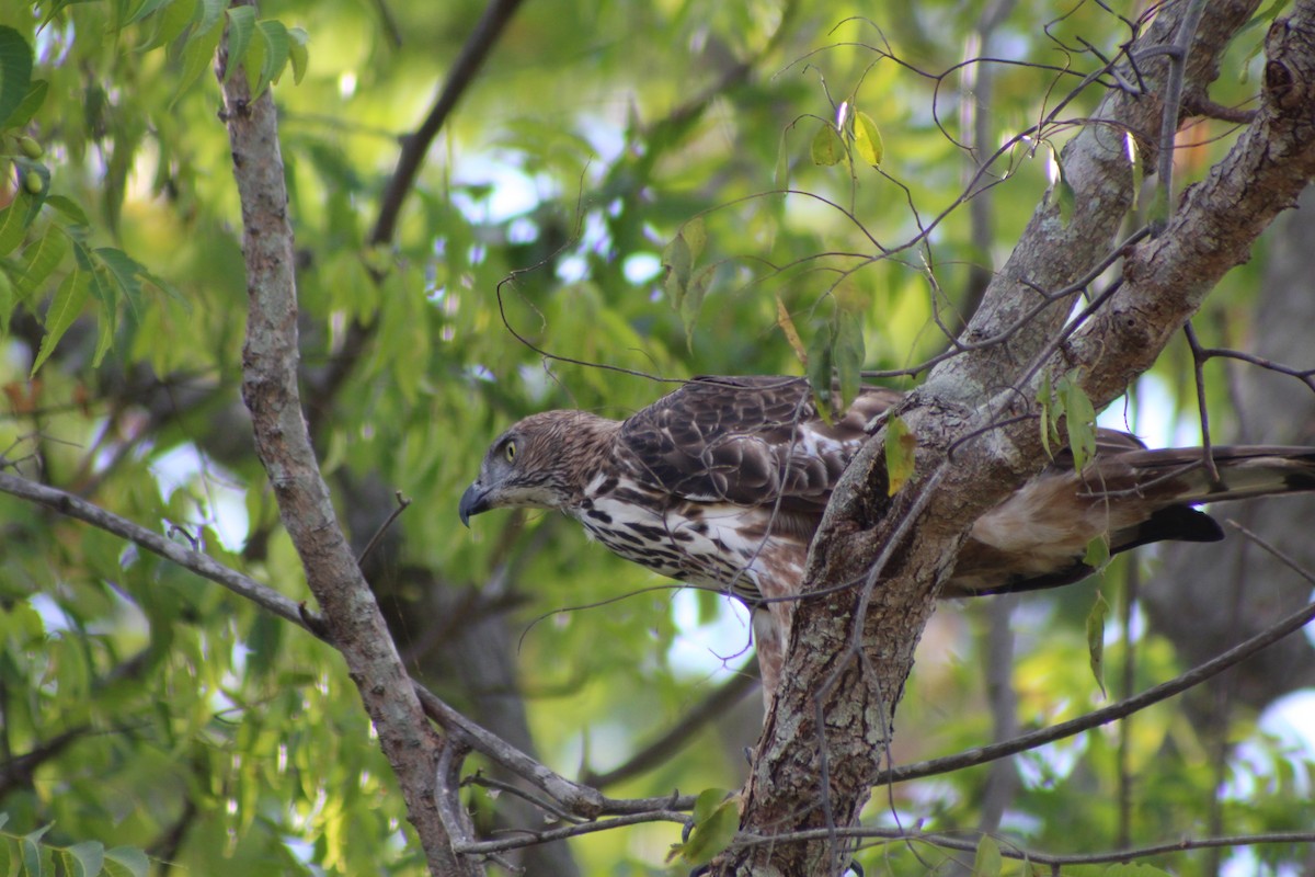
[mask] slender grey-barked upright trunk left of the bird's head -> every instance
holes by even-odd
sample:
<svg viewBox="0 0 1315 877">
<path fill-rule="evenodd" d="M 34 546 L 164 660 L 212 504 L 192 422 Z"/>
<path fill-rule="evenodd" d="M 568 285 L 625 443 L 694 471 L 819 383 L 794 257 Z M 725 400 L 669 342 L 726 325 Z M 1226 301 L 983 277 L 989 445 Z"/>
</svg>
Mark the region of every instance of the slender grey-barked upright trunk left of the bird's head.
<svg viewBox="0 0 1315 877">
<path fill-rule="evenodd" d="M 483 868 L 452 849 L 463 838 L 451 834 L 469 834 L 469 820 L 460 801 L 438 801 L 437 772 L 450 744 L 425 721 L 379 606 L 338 525 L 302 415 L 292 227 L 274 100 L 268 91 L 252 100 L 245 71 L 233 71 L 225 80 L 226 67 L 227 55 L 221 50 L 216 68 L 224 84 L 224 117 L 242 202 L 247 268 L 242 397 L 251 412 L 256 454 L 306 582 L 323 609 L 329 635 L 347 663 L 397 774 L 408 819 L 430 870 L 473 877 Z M 460 814 L 459 824 L 443 819 L 452 810 Z"/>
</svg>

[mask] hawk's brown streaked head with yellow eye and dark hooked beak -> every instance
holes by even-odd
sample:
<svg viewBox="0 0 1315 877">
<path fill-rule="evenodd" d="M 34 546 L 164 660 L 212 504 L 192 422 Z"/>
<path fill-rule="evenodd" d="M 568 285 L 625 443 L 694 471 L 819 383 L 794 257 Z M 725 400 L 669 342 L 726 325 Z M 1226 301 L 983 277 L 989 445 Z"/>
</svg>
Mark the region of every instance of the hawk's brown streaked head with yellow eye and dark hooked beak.
<svg viewBox="0 0 1315 877">
<path fill-rule="evenodd" d="M 565 509 L 584 489 L 589 451 L 610 438 L 615 421 L 585 412 L 531 414 L 497 437 L 480 463 L 480 476 L 462 494 L 459 514 L 469 526 L 472 515 L 489 509 Z"/>
</svg>

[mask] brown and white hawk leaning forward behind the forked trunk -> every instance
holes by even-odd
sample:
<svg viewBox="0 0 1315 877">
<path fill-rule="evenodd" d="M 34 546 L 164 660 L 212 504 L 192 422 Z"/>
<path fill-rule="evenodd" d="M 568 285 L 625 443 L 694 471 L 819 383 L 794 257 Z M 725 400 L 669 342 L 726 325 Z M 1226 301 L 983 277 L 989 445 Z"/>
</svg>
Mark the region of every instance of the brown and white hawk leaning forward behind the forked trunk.
<svg viewBox="0 0 1315 877">
<path fill-rule="evenodd" d="M 694 377 L 625 421 L 579 410 L 533 414 L 493 442 L 462 496 L 460 518 L 498 508 L 556 509 L 626 560 L 753 609 L 769 701 L 780 677 L 809 543 L 874 417 L 901 393 L 864 388 L 826 422 L 800 377 Z M 1180 539 L 1214 542 L 1219 525 L 1193 506 L 1315 490 L 1315 448 L 1147 450 L 1097 430 L 1081 473 L 1066 451 L 972 527 L 942 596 L 1049 588 L 1093 569 L 1088 544 L 1111 552 Z M 763 598 L 768 598 L 765 602 Z M 782 600 L 785 598 L 785 600 Z"/>
</svg>

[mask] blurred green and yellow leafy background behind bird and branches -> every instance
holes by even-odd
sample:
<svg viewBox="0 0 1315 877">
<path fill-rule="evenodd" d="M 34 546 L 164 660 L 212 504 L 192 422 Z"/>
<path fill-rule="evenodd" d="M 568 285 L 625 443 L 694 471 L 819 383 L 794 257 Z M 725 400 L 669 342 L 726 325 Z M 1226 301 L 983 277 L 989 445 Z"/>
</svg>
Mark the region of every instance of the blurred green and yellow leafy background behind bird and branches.
<svg viewBox="0 0 1315 877">
<path fill-rule="evenodd" d="M 49 82 L 21 133 L 45 147 L 50 192 L 85 213 L 47 209 L 4 263 L 14 292 L 5 302 L 0 444 L 24 475 L 306 598 L 237 391 L 239 216 L 217 88 L 208 58 L 196 68 L 193 38 L 217 7 L 146 5 L 159 9 L 137 21 L 145 7 L 133 3 L 0 11 L 0 24 L 36 47 L 34 75 Z M 857 326 L 869 369 L 939 352 L 934 317 L 953 326 L 972 306 L 981 270 L 1009 252 L 1070 129 L 1053 125 L 1010 149 L 992 167 L 1002 179 L 1007 168 L 1007 179 L 974 201 L 981 214 L 959 205 L 977 167 L 963 145 L 985 133 L 981 142 L 994 149 L 1066 95 L 1074 82 L 1063 68 L 1093 63 L 1078 37 L 1112 51 L 1128 32 L 1094 3 L 526 4 L 429 151 L 394 238 L 373 242 L 398 141 L 481 11 L 402 0 L 288 0 L 260 11 L 309 37 L 304 78 L 295 84 L 287 71 L 274 87 L 309 414 L 358 546 L 384 522 L 394 490 L 412 500 L 367 572 L 413 672 L 508 736 L 523 724 L 556 769 L 605 772 L 752 661 L 747 628 L 723 598 L 655 588 L 661 582 L 586 547 L 563 521 L 489 515 L 473 535 L 459 527 L 456 497 L 488 440 L 544 408 L 623 417 L 668 387 L 652 376 L 801 373 L 781 312 L 805 344 L 823 327 Z M 191 30 L 171 36 L 168 16 Z M 1258 21 L 1235 46 L 1215 101 L 1245 105 L 1262 34 Z M 1045 67 L 972 64 L 939 88 L 923 75 L 976 55 Z M 1081 117 L 1097 97 L 1078 95 L 1066 116 Z M 847 116 L 863 110 L 880 128 L 880 171 L 813 162 L 813 138 L 842 103 Z M 1180 174 L 1203 172 L 1227 138 L 1224 122 L 1185 130 Z M 17 154 L 12 138 L 5 150 Z M 5 199 L 16 187 L 11 174 Z M 780 192 L 786 187 L 792 195 Z M 696 263 L 706 268 L 706 297 L 681 313 L 668 301 L 661 259 L 693 217 L 706 230 Z M 121 250 L 143 271 L 139 288 L 88 298 L 33 373 L 75 262 L 64 258 L 29 291 L 16 279 L 51 224 L 87 247 Z M 877 246 L 890 256 L 874 259 Z M 1208 343 L 1270 337 L 1256 323 L 1269 313 L 1262 295 L 1310 297 L 1301 284 L 1266 285 L 1268 255 L 1235 271 L 1197 321 Z M 356 322 L 368 331 L 354 334 Z M 97 363 L 101 338 L 112 343 Z M 1295 397 L 1304 413 L 1290 422 L 1241 423 L 1230 414 L 1240 394 L 1281 391 L 1244 393 L 1243 369 L 1211 368 L 1216 430 L 1308 439 L 1304 396 Z M 1191 440 L 1191 380 L 1186 346 L 1170 350 L 1143 385 L 1147 404 L 1115 412 L 1115 422 L 1165 437 L 1185 430 Z M 0 498 L 0 523 L 5 831 L 53 822 L 49 844 L 142 847 L 159 873 L 214 873 L 220 861 L 252 874 L 421 872 L 388 767 L 329 650 L 18 500 Z M 1151 593 L 1174 563 L 1173 552 L 1144 555 L 1060 593 L 947 606 L 922 644 L 894 760 L 1090 709 L 1101 699 L 1084 630 L 1094 589 L 1118 606 L 1128 575 Z M 1306 594 L 1291 576 L 1243 589 L 1249 568 L 1219 584 L 1194 577 L 1195 590 L 1180 600 L 1237 606 L 1255 589 L 1266 602 L 1276 592 Z M 634 596 L 556 611 L 623 594 Z M 1184 640 L 1231 642 L 1227 619 L 1219 631 L 1173 635 L 1157 632 L 1157 613 L 1140 604 L 1123 614 L 1123 628 L 1111 622 L 1106 634 L 1111 693 L 1181 671 L 1190 663 Z M 1124 661 L 1130 642 L 1135 664 Z M 1001 643 L 1013 660 L 995 660 Z M 1297 660 L 1308 663 L 1298 646 Z M 1014 778 L 977 768 L 881 790 L 871 818 L 985 828 L 1003 844 L 1073 852 L 1308 828 L 1310 751 L 1258 717 L 1310 682 L 1308 673 L 1240 676 L 1198 698 L 1208 706 L 1170 702 L 1023 756 Z M 742 699 L 690 730 L 679 755 L 609 793 L 734 788 L 755 710 L 752 697 Z M 469 801 L 493 828 L 502 797 L 472 788 Z M 676 827 L 659 824 L 596 835 L 571 855 L 581 873 L 667 873 L 663 856 L 676 839 Z M 920 873 L 938 856 L 878 847 L 867 864 L 869 873 Z M 1227 853 L 1223 866 L 1298 873 L 1308 856 L 1265 845 Z M 1212 873 L 1220 857 L 1160 864 Z"/>
</svg>

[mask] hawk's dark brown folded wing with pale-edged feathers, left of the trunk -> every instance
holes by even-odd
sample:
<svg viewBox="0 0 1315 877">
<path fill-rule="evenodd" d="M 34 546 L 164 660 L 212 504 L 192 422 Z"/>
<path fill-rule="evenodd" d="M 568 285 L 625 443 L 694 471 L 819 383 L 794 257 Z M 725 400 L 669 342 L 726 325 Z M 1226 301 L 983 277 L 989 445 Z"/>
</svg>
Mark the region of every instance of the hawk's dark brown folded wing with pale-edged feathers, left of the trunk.
<svg viewBox="0 0 1315 877">
<path fill-rule="evenodd" d="M 864 388 L 826 423 L 801 377 L 696 377 L 627 419 L 621 440 L 635 477 L 702 502 L 776 505 L 821 515 L 867 434 L 901 394 Z"/>
</svg>

